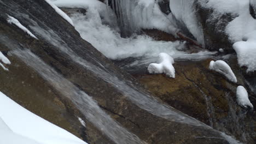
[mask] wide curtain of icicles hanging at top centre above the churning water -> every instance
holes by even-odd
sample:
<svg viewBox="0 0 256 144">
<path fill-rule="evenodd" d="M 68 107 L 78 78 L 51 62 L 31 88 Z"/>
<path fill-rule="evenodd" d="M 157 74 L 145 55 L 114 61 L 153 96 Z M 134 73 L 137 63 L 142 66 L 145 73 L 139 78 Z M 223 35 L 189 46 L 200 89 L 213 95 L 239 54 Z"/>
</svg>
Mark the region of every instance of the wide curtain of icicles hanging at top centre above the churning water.
<svg viewBox="0 0 256 144">
<path fill-rule="evenodd" d="M 160 29 L 171 34 L 176 34 L 178 31 L 172 16 L 162 13 L 155 0 L 109 0 L 106 2 L 115 11 L 124 37 L 143 28 Z"/>
</svg>

